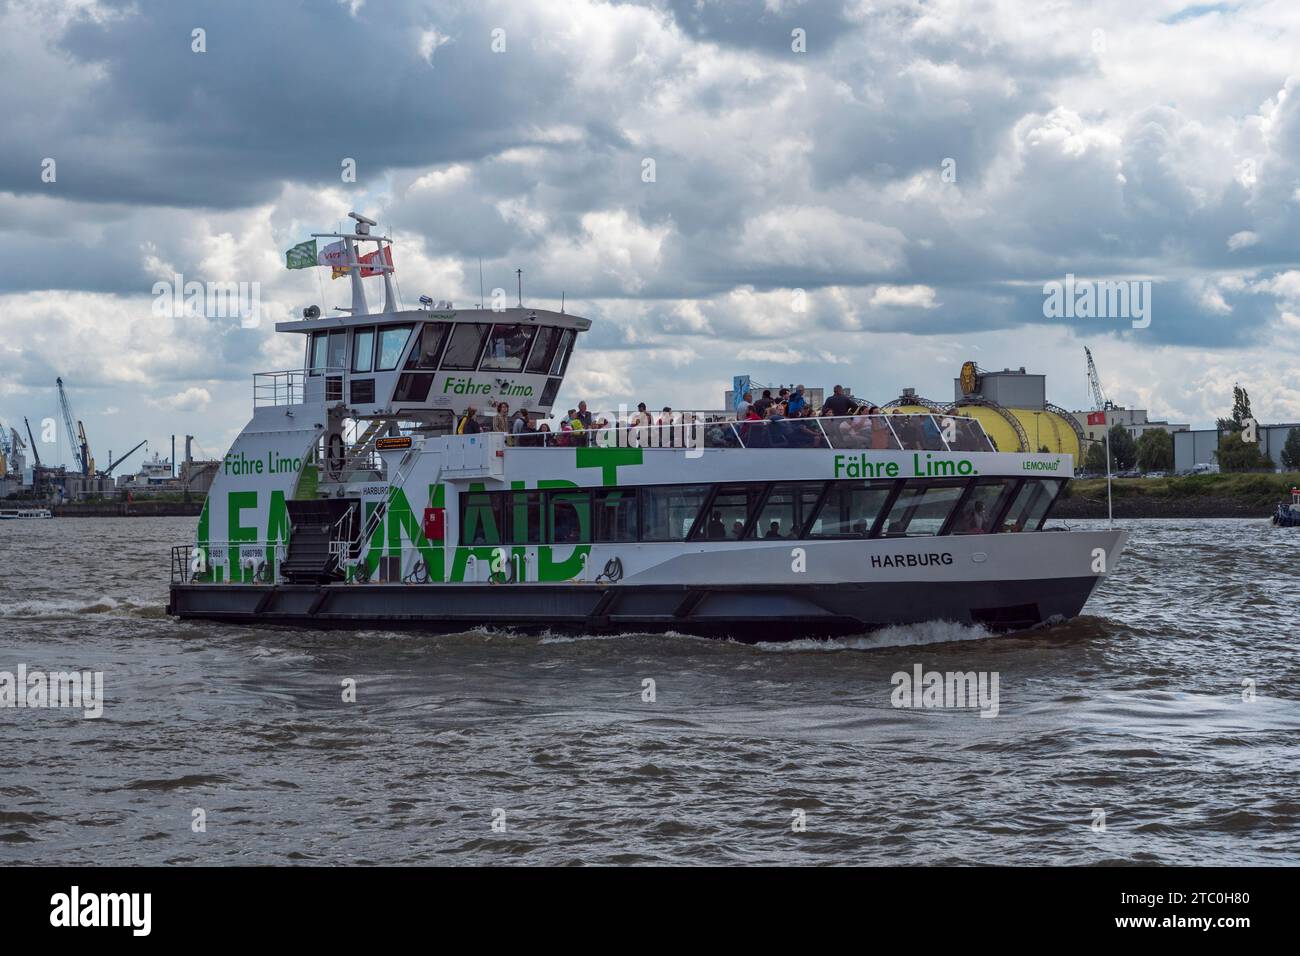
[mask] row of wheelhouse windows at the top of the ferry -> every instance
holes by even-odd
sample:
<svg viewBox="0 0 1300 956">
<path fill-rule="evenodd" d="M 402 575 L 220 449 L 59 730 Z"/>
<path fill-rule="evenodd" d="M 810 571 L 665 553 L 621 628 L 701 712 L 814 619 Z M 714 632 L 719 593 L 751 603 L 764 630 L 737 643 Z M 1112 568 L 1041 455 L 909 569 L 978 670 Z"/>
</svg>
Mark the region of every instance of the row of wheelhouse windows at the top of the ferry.
<svg viewBox="0 0 1300 956">
<path fill-rule="evenodd" d="M 346 329 L 313 332 L 311 369 L 347 367 L 352 372 L 391 372 L 402 360 L 412 329 L 413 324 L 352 329 L 350 365 Z M 575 329 L 554 325 L 424 323 L 404 367 L 564 375 L 576 337 Z"/>
</svg>

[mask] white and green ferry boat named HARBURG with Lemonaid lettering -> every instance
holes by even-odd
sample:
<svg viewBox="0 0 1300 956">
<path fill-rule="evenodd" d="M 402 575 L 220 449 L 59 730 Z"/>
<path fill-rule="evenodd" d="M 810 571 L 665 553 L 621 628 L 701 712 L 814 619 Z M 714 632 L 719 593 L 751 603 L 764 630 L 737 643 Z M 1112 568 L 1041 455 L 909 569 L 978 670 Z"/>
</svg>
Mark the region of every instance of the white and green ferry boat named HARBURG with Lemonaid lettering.
<svg viewBox="0 0 1300 956">
<path fill-rule="evenodd" d="M 458 433 L 499 402 L 549 418 L 592 323 L 402 310 L 391 241 L 352 219 L 318 234 L 346 248 L 352 307 L 277 324 L 303 337 L 304 367 L 254 376 L 252 419 L 195 540 L 173 549 L 173 615 L 742 641 L 933 619 L 1009 630 L 1079 614 L 1119 559 L 1123 532 L 1044 529 L 1070 455 L 997 451 L 974 419 Z"/>
</svg>

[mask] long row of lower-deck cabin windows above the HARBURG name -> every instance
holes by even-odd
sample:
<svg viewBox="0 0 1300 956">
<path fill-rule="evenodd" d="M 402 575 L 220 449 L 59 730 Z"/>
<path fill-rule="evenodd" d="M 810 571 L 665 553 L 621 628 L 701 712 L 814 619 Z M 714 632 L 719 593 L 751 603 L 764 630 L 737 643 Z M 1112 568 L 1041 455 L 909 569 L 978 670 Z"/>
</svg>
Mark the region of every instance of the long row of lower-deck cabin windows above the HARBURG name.
<svg viewBox="0 0 1300 956">
<path fill-rule="evenodd" d="M 776 481 L 460 496 L 460 544 L 916 537 L 1037 531 L 1058 479 Z"/>
</svg>

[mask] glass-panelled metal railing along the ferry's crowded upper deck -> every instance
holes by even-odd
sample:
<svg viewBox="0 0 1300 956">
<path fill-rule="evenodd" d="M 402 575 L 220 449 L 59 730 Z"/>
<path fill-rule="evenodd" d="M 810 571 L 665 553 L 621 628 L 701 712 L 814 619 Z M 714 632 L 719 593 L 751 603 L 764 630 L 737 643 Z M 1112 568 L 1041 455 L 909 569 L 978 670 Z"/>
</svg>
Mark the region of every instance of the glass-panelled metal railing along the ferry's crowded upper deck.
<svg viewBox="0 0 1300 956">
<path fill-rule="evenodd" d="M 842 449 L 997 451 L 979 421 L 957 415 L 844 415 L 755 421 L 681 421 L 507 436 L 514 447 Z"/>
</svg>

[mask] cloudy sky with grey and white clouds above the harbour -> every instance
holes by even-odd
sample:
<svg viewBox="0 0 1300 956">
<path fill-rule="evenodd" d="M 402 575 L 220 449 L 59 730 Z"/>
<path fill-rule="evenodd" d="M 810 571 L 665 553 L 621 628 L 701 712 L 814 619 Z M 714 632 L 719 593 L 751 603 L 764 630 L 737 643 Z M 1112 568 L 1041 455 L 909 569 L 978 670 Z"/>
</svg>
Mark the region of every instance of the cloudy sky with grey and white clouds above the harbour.
<svg viewBox="0 0 1300 956">
<path fill-rule="evenodd" d="M 101 466 L 225 450 L 302 362 L 273 321 L 347 303 L 283 251 L 350 209 L 408 306 L 480 258 L 564 293 L 569 405 L 949 399 L 974 359 L 1079 408 L 1088 345 L 1153 416 L 1300 420 L 1291 0 L 0 0 L 0 421 L 61 375 Z M 156 315 L 177 273 L 259 282 L 260 326 Z M 1066 274 L 1149 281 L 1149 325 L 1045 317 Z"/>
</svg>

